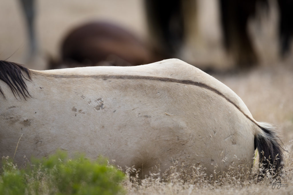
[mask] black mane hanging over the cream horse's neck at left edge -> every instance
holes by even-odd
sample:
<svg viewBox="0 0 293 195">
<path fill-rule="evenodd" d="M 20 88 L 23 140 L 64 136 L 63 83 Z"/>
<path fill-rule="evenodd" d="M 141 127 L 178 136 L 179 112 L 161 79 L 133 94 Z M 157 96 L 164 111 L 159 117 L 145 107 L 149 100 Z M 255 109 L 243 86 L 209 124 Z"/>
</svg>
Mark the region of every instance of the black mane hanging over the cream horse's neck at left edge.
<svg viewBox="0 0 293 195">
<path fill-rule="evenodd" d="M 23 65 L 14 62 L 7 62 L 0 60 L 0 80 L 4 81 L 10 87 L 14 97 L 16 95 L 21 98 L 21 95 L 24 97 L 30 96 L 27 90 L 27 86 L 23 80 L 28 80 L 24 77 L 22 71 L 26 73 L 29 80 L 30 77 L 30 70 L 25 68 Z M 0 93 L 5 98 L 5 95 L 0 86 Z M 31 96 L 30 96 L 31 97 Z"/>
</svg>

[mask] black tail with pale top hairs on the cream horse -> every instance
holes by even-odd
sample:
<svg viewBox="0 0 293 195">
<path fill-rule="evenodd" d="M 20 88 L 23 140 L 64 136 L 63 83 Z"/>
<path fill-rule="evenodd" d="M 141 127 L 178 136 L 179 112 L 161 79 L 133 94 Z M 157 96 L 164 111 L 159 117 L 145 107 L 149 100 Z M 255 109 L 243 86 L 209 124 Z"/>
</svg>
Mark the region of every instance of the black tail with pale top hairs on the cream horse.
<svg viewBox="0 0 293 195">
<path fill-rule="evenodd" d="M 284 166 L 282 141 L 277 136 L 276 128 L 265 122 L 257 122 L 258 133 L 254 137 L 254 146 L 259 153 L 259 166 L 263 165 L 260 172 L 267 171 L 279 175 Z"/>
</svg>

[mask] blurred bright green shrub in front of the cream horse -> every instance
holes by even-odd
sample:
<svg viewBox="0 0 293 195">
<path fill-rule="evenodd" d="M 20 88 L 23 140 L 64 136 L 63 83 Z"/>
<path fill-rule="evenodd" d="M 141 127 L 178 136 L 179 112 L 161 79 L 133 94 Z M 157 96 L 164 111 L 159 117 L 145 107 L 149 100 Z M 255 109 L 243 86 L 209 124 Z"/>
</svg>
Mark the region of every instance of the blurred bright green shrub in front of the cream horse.
<svg viewBox="0 0 293 195">
<path fill-rule="evenodd" d="M 49 158 L 32 159 L 19 170 L 5 159 L 0 175 L 0 194 L 125 194 L 125 175 L 98 158 L 68 159 L 58 151 Z"/>
</svg>

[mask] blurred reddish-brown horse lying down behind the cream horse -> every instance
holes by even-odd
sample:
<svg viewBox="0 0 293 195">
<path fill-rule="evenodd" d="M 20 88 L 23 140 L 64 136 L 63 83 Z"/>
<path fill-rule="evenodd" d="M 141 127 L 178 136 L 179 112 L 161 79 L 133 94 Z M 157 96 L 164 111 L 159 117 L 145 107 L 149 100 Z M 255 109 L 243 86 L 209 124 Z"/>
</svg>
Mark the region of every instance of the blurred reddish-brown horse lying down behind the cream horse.
<svg viewBox="0 0 293 195">
<path fill-rule="evenodd" d="M 61 45 L 61 61 L 49 69 L 81 66 L 134 66 L 155 62 L 154 51 L 128 30 L 107 22 L 91 22 L 71 30 Z"/>
</svg>

